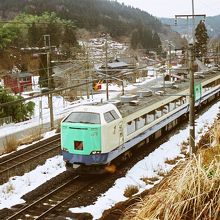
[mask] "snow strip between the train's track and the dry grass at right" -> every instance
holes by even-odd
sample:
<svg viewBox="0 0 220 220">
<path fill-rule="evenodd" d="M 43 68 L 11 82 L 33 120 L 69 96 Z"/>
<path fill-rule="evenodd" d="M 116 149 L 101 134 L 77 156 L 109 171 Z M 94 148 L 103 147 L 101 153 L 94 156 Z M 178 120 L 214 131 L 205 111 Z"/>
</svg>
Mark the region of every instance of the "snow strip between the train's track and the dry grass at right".
<svg viewBox="0 0 220 220">
<path fill-rule="evenodd" d="M 208 126 L 213 124 L 214 119 L 219 112 L 219 108 L 220 102 L 212 106 L 208 112 L 204 113 L 196 120 L 196 142 L 198 142 L 202 134 L 208 130 Z M 200 134 L 198 134 L 198 131 Z M 180 144 L 183 141 L 186 141 L 188 136 L 189 127 L 172 136 L 170 140 L 162 144 L 158 149 L 150 153 L 143 160 L 139 161 L 131 170 L 128 171 L 125 177 L 116 180 L 114 186 L 101 195 L 95 204 L 86 207 L 72 208 L 70 211 L 73 213 L 88 212 L 93 215 L 93 219 L 99 219 L 106 209 L 109 209 L 116 203 L 127 199 L 123 195 L 127 186 L 138 186 L 138 193 L 152 188 L 153 185 L 146 185 L 141 178 L 157 176 L 160 178 L 159 181 L 161 181 L 162 177 L 158 176 L 158 171 L 168 172 L 175 166 L 166 164 L 165 161 L 167 159 L 174 159 L 177 156 L 183 157 L 180 150 Z"/>
</svg>

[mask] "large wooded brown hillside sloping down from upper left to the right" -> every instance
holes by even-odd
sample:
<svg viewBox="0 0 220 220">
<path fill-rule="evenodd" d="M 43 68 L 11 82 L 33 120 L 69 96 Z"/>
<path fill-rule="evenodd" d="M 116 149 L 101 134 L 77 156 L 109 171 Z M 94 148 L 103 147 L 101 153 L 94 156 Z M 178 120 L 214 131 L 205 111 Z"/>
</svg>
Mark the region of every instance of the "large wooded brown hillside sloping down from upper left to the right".
<svg viewBox="0 0 220 220">
<path fill-rule="evenodd" d="M 108 32 L 114 38 L 130 40 L 132 33 L 144 28 L 156 33 L 167 34 L 157 18 L 140 9 L 112 0 L 1 0 L 0 19 L 12 20 L 20 13 L 41 15 L 55 12 L 61 19 L 74 21 L 77 29 L 90 33 Z M 178 36 L 179 37 L 179 36 Z"/>
</svg>

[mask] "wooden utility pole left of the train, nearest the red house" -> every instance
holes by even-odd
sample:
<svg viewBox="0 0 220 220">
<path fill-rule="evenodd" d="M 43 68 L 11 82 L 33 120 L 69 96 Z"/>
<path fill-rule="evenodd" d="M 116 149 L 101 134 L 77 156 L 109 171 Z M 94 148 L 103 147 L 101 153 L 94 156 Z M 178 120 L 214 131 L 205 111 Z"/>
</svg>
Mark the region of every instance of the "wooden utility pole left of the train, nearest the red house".
<svg viewBox="0 0 220 220">
<path fill-rule="evenodd" d="M 51 89 L 51 76 L 50 76 L 50 35 L 44 35 L 44 46 L 47 51 L 47 78 L 48 88 Z M 54 129 L 54 116 L 53 116 L 53 94 L 48 94 L 48 105 L 50 109 L 50 129 Z"/>
</svg>

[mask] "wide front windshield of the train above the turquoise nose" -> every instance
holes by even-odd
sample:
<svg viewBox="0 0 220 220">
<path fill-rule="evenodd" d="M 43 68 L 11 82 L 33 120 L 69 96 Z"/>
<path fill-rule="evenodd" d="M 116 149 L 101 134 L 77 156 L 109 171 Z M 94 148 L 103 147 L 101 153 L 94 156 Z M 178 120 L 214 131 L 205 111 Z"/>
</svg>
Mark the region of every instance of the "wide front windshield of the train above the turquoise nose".
<svg viewBox="0 0 220 220">
<path fill-rule="evenodd" d="M 63 122 L 101 124 L 100 115 L 91 112 L 72 112 Z"/>
</svg>

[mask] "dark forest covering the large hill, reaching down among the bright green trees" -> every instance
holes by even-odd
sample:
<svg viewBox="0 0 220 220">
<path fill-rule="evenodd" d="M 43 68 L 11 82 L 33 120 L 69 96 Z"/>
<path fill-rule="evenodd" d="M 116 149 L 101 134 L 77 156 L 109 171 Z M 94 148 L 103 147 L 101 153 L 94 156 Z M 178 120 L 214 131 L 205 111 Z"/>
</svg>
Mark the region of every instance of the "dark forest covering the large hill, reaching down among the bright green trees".
<svg viewBox="0 0 220 220">
<path fill-rule="evenodd" d="M 117 1 L 110 0 L 1 0 L 0 18 L 3 21 L 17 19 L 20 14 L 42 17 L 44 13 L 55 14 L 56 19 L 50 20 L 50 25 L 46 28 L 48 34 L 55 36 L 53 28 L 56 27 L 55 21 L 58 19 L 63 23 L 71 21 L 74 24 L 74 30 L 84 29 L 93 36 L 95 33 L 109 33 L 115 39 L 126 39 L 131 43 L 132 48 L 160 48 L 160 34 L 171 32 L 157 18 L 140 9 L 131 6 L 125 6 Z M 28 16 L 26 16 L 28 17 Z M 29 16 L 30 17 L 30 16 Z M 19 17 L 19 19 L 21 16 Z M 41 20 L 42 21 L 42 20 Z M 21 21 L 23 22 L 23 21 Z M 26 22 L 27 19 L 26 19 Z M 30 20 L 31 25 L 28 33 L 33 33 L 38 29 L 39 22 Z M 0 29 L 5 27 L 4 23 Z M 18 27 L 18 25 L 16 26 Z M 45 29 L 45 27 L 44 27 Z M 49 30 L 50 29 L 50 30 Z M 66 33 L 70 29 L 65 30 Z M 63 28 L 61 33 L 63 32 Z M 42 33 L 43 35 L 44 33 Z M 1 30 L 0 30 L 1 35 Z M 57 36 L 59 36 L 58 34 Z M 37 35 L 36 35 L 37 36 Z M 35 36 L 35 38 L 36 38 Z M 67 36 L 67 35 L 65 35 Z M 73 36 L 73 32 L 71 32 Z M 57 37 L 56 37 L 57 38 Z M 68 41 L 70 40 L 67 37 Z M 17 40 L 17 39 L 16 39 Z M 11 42 L 15 42 L 13 39 Z M 26 45 L 33 44 L 25 42 Z"/>
</svg>

